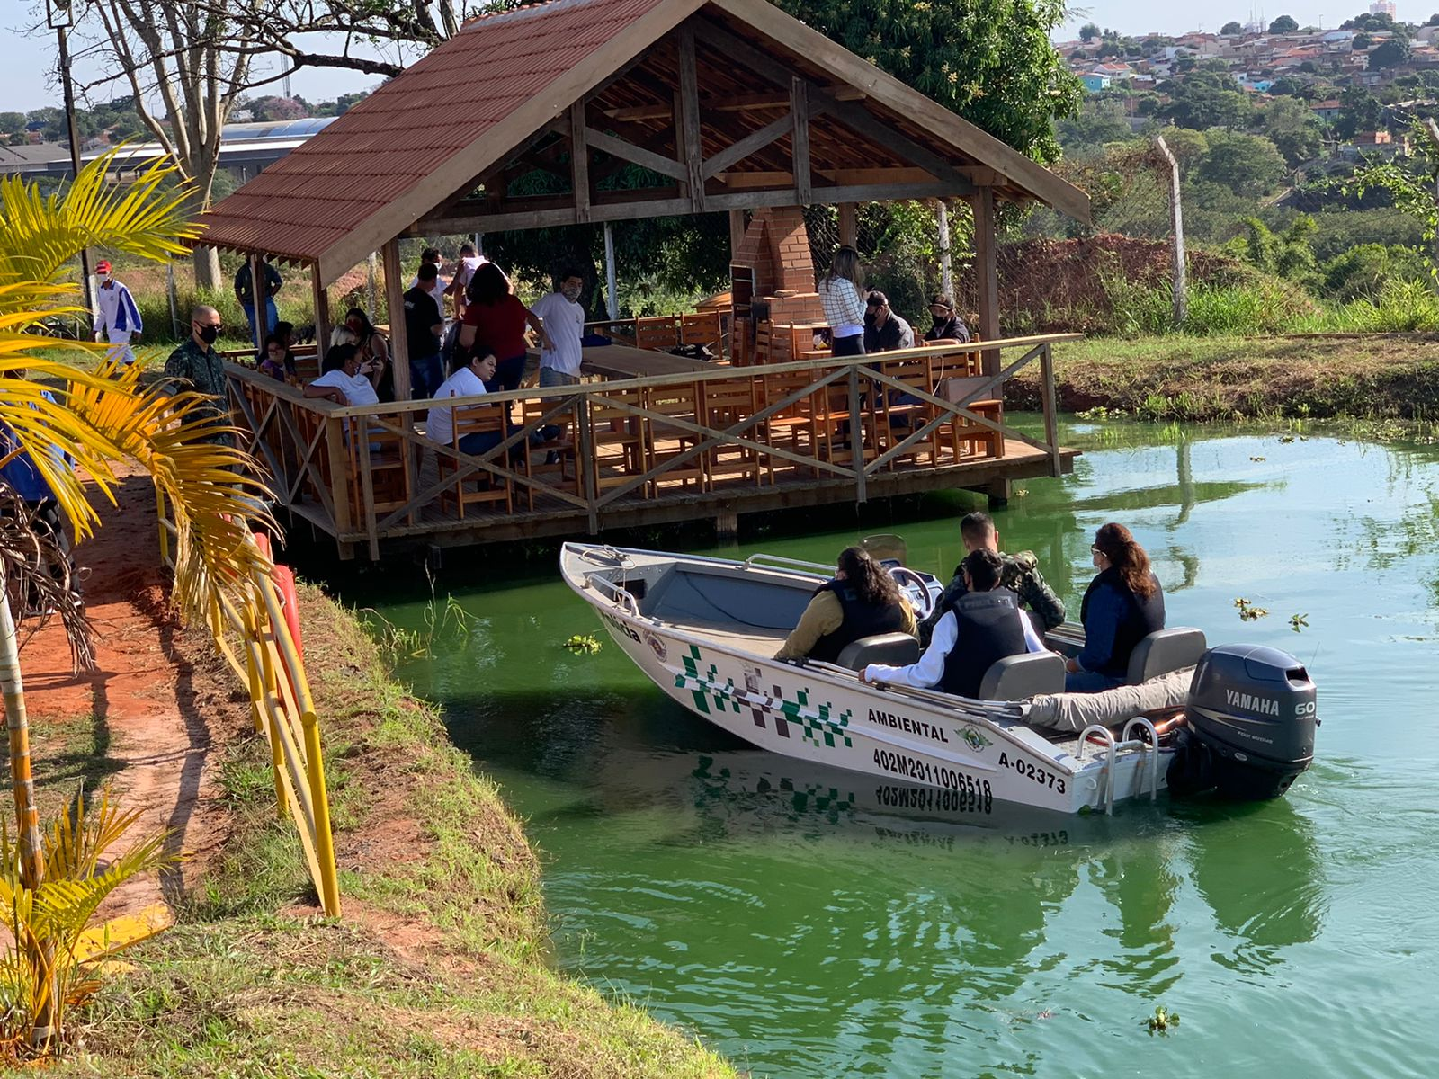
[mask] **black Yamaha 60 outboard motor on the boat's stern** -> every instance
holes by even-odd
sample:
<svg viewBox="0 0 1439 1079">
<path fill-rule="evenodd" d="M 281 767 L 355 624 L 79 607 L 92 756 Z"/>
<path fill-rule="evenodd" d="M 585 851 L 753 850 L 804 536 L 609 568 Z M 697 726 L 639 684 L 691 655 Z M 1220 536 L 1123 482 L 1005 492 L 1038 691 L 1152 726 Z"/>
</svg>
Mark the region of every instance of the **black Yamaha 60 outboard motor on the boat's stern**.
<svg viewBox="0 0 1439 1079">
<path fill-rule="evenodd" d="M 1189 729 L 1167 774 L 1174 794 L 1217 787 L 1233 798 L 1276 798 L 1314 760 L 1314 682 L 1288 652 L 1210 649 L 1194 669 L 1184 711 Z"/>
</svg>

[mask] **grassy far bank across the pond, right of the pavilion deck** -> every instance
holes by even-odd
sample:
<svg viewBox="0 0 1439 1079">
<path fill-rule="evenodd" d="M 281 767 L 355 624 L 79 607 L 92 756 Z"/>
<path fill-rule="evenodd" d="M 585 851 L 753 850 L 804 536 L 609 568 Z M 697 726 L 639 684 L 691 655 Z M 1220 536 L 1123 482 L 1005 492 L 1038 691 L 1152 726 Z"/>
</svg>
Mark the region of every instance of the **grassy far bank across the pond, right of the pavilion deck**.
<svg viewBox="0 0 1439 1079">
<path fill-rule="evenodd" d="M 1439 417 L 1439 335 L 1089 338 L 1055 348 L 1061 404 L 1144 419 Z M 1038 365 L 1007 387 L 1039 407 Z"/>
</svg>

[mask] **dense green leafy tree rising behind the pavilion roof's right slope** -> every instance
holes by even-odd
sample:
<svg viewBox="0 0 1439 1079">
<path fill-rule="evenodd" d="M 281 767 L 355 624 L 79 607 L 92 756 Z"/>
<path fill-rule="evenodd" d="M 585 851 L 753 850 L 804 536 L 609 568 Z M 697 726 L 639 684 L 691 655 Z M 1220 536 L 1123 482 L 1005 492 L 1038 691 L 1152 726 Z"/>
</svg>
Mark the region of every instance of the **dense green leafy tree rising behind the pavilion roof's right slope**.
<svg viewBox="0 0 1439 1079">
<path fill-rule="evenodd" d="M 1049 40 L 1062 0 L 780 0 L 781 9 L 1036 161 L 1084 86 Z"/>
</svg>

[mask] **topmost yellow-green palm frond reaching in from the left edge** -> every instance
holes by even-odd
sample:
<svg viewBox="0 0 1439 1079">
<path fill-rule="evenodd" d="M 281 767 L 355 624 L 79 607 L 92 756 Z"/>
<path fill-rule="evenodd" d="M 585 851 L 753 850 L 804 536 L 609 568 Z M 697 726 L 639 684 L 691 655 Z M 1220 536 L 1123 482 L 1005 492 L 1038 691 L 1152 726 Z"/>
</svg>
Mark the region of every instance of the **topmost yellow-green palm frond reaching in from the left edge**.
<svg viewBox="0 0 1439 1079">
<path fill-rule="evenodd" d="M 165 184 L 174 165 L 157 158 L 128 186 L 111 186 L 111 151 L 81 168 L 62 191 L 42 194 L 19 177 L 0 180 L 0 285 L 53 285 L 81 250 L 108 247 L 144 259 L 184 255 L 184 240 L 200 235 L 187 184 Z M 0 296 L 0 311 L 35 306 L 23 289 Z M 73 289 L 72 289 L 73 295 Z"/>
</svg>

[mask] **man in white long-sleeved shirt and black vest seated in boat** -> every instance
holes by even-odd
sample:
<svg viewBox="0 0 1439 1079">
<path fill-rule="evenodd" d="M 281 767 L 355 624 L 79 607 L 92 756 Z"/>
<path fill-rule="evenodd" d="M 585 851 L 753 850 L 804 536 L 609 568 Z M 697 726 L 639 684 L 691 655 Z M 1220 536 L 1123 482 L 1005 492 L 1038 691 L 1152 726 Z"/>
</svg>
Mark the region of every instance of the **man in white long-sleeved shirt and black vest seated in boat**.
<svg viewBox="0 0 1439 1079">
<path fill-rule="evenodd" d="M 907 668 L 871 663 L 859 675 L 862 682 L 932 686 L 955 696 L 979 696 L 991 663 L 1045 650 L 1045 642 L 1019 609 L 1019 597 L 999 586 L 1004 563 L 994 551 L 970 551 L 960 571 L 966 591 L 934 627 L 920 662 Z"/>
</svg>

